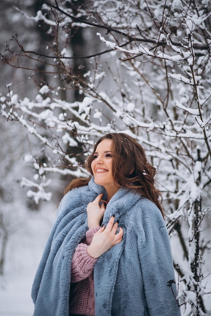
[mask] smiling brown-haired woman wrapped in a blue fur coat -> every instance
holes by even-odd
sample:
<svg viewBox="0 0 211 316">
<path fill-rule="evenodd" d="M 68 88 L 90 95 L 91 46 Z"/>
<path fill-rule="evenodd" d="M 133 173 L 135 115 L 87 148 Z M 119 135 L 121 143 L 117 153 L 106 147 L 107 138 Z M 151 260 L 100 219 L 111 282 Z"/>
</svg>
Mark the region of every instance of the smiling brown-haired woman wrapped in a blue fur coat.
<svg viewBox="0 0 211 316">
<path fill-rule="evenodd" d="M 170 242 L 142 146 L 101 137 L 66 189 L 33 287 L 34 316 L 179 316 Z"/>
</svg>

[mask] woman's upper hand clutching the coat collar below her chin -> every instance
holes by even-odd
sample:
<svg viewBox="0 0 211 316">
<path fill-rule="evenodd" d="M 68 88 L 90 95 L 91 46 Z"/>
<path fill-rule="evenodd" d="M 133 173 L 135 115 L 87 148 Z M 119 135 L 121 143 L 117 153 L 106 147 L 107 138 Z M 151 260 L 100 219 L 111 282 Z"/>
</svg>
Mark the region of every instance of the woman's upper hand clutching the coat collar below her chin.
<svg viewBox="0 0 211 316">
<path fill-rule="evenodd" d="M 103 215 L 105 212 L 105 204 L 106 201 L 102 201 L 103 193 L 98 195 L 93 202 L 90 202 L 87 205 L 87 216 L 88 216 L 88 227 L 89 229 L 93 227 L 99 227 L 100 222 L 103 219 Z M 103 202 L 100 206 L 100 201 Z"/>
</svg>

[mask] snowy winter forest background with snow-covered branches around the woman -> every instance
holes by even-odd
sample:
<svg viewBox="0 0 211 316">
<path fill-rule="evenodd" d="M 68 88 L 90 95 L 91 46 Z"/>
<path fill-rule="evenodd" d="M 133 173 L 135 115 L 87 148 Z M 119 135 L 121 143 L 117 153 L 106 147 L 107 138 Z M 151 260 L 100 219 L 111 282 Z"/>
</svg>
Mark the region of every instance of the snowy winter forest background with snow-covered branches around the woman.
<svg viewBox="0 0 211 316">
<path fill-rule="evenodd" d="M 211 314 L 211 2 L 2 0 L 0 315 L 31 283 L 64 188 L 97 138 L 157 166 L 183 315 Z"/>
</svg>

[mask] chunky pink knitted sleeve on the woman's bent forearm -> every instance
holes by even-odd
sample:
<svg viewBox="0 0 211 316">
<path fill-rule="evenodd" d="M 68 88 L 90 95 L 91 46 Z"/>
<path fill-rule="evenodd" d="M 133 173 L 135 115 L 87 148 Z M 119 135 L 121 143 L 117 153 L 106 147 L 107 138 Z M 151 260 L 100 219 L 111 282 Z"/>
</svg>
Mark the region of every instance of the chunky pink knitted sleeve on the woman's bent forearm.
<svg viewBox="0 0 211 316">
<path fill-rule="evenodd" d="M 97 259 L 92 258 L 87 248 L 92 242 L 94 234 L 100 227 L 94 227 L 87 231 L 86 239 L 79 243 L 72 257 L 71 282 L 75 283 L 88 278 L 93 272 Z"/>
</svg>

